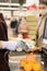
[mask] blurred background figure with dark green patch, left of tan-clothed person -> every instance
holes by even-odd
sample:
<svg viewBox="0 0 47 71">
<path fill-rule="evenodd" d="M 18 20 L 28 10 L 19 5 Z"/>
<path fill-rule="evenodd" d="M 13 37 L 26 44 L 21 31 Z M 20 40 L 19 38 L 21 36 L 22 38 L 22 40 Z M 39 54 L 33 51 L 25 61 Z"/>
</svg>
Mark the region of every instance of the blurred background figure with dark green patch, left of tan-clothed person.
<svg viewBox="0 0 47 71">
<path fill-rule="evenodd" d="M 17 26 L 19 26 L 19 24 L 17 24 L 17 20 L 16 20 L 16 17 L 13 17 L 13 20 L 11 21 L 11 23 L 10 23 L 10 27 L 12 28 L 12 31 L 13 31 L 13 36 L 17 36 Z"/>
</svg>

